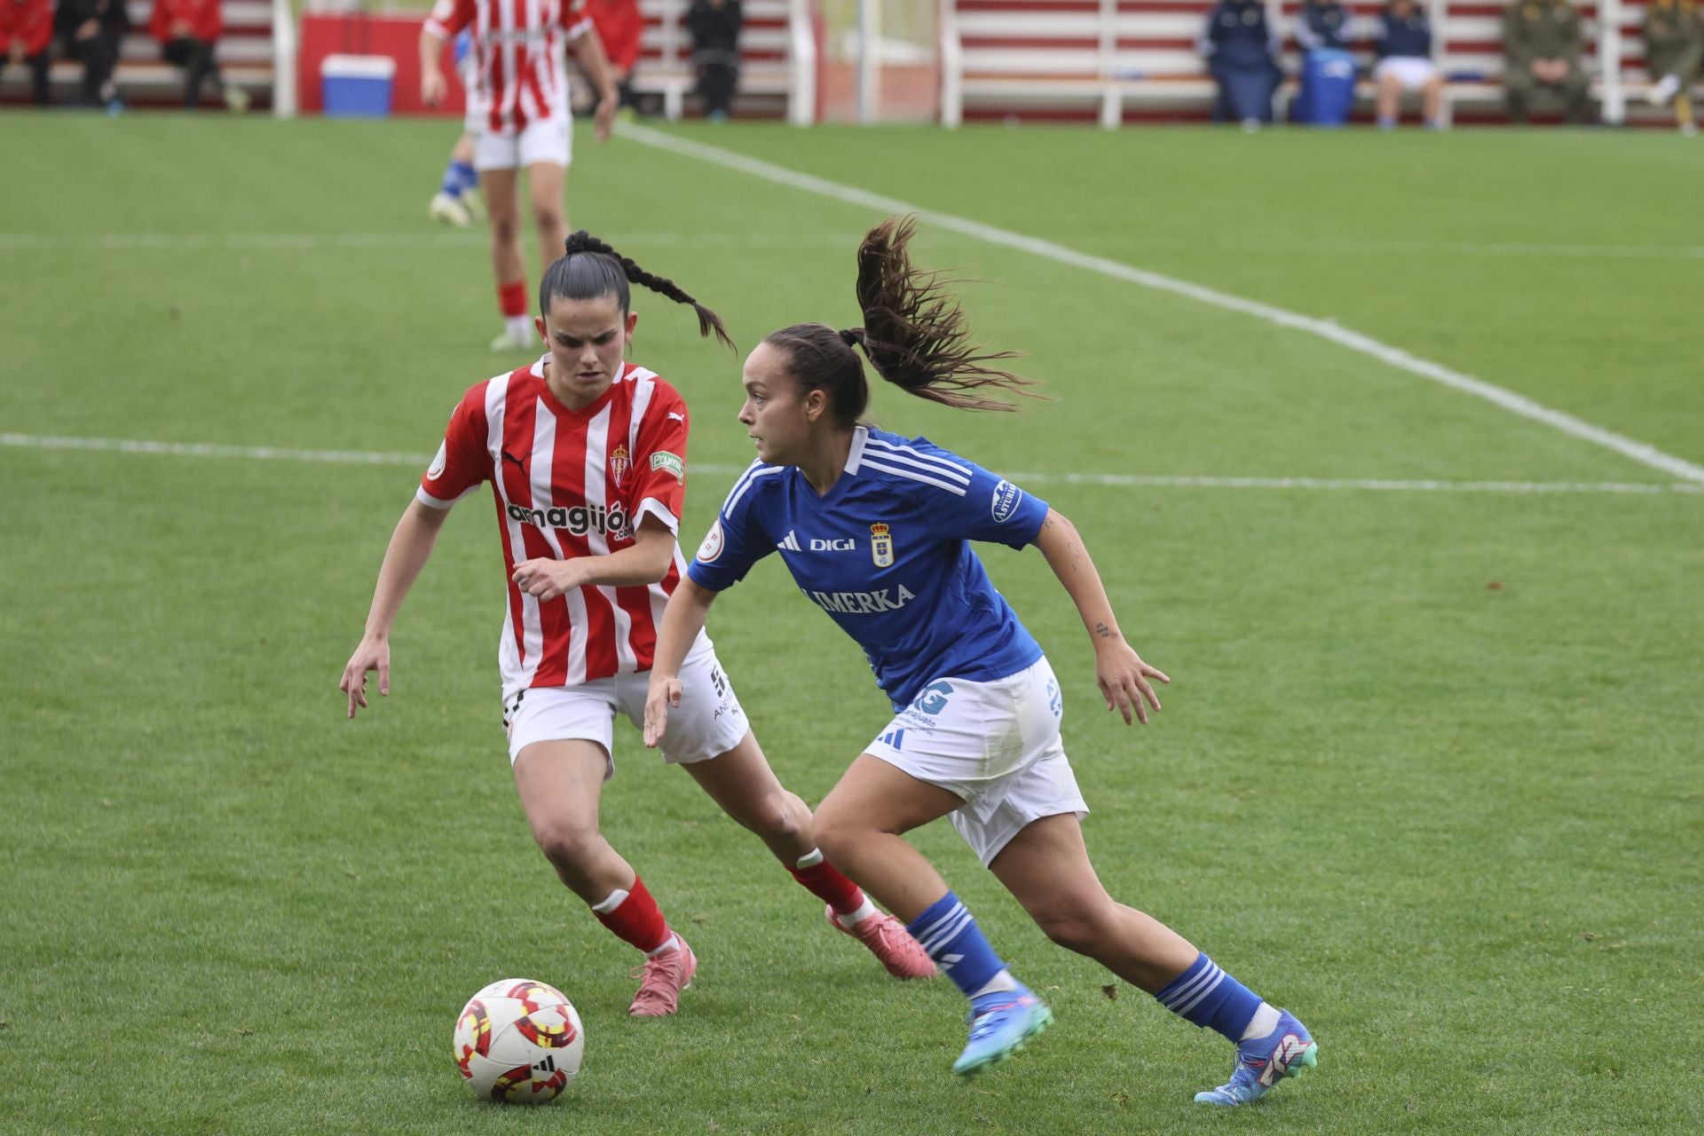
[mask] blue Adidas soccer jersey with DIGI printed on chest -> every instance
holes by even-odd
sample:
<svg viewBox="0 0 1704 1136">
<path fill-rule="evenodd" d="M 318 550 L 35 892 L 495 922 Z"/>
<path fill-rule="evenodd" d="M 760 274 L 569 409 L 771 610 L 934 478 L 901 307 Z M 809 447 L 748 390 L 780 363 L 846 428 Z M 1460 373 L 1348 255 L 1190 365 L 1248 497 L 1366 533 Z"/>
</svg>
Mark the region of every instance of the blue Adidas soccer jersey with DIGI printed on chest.
<svg viewBox="0 0 1704 1136">
<path fill-rule="evenodd" d="M 925 438 L 859 427 L 821 497 L 797 467 L 753 462 L 687 572 L 722 591 L 779 552 L 898 710 L 930 680 L 992 681 L 1041 657 L 966 542 L 1022 548 L 1046 516 L 1045 501 Z"/>
</svg>

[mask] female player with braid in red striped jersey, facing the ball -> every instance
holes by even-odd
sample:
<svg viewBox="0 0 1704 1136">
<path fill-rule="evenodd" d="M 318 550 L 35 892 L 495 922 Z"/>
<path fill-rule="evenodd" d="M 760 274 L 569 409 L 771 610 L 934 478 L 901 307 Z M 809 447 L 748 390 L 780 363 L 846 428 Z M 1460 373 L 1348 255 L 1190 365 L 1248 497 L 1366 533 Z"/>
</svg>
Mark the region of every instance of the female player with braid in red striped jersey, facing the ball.
<svg viewBox="0 0 1704 1136">
<path fill-rule="evenodd" d="M 426 565 L 450 508 L 491 482 L 508 567 L 503 622 L 503 722 L 527 821 L 562 882 L 598 920 L 648 957 L 630 1012 L 673 1013 L 697 959 L 670 930 L 634 869 L 598 833 L 602 785 L 615 773 L 615 714 L 641 724 L 656 623 L 685 560 L 675 543 L 685 499 L 687 404 L 651 371 L 624 361 L 639 313 L 629 281 L 699 313 L 714 312 L 607 244 L 574 233 L 538 290 L 549 353 L 472 387 L 385 550 L 366 634 L 341 688 L 349 717 L 366 705 L 366 674 L 390 693 L 390 627 Z M 731 346 L 731 342 L 729 342 Z M 859 938 L 898 978 L 934 962 L 891 916 L 823 860 L 811 812 L 782 789 L 740 700 L 699 635 L 680 681 L 697 714 L 676 719 L 663 748 L 733 819 L 757 833 L 794 877 L 828 903 L 828 921 Z"/>
</svg>

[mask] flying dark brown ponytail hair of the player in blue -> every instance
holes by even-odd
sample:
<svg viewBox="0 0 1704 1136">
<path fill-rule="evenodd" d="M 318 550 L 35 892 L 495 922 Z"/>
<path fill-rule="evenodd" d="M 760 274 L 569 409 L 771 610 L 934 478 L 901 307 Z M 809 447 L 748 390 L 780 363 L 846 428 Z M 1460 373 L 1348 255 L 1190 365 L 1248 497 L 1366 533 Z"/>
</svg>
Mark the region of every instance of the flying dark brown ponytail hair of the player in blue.
<svg viewBox="0 0 1704 1136">
<path fill-rule="evenodd" d="M 891 216 L 869 230 L 857 250 L 857 303 L 864 327 L 835 330 L 826 324 L 794 324 L 763 342 L 787 353 L 787 371 L 803 390 L 826 390 L 835 422 L 857 426 L 869 405 L 869 383 L 855 347 L 864 347 L 876 373 L 901 390 L 963 410 L 1016 410 L 1010 402 L 980 393 L 993 387 L 1036 399 L 1029 380 L 985 363 L 1016 358 L 970 342 L 964 312 L 947 293 L 953 279 L 912 266 L 907 247 L 915 218 Z"/>
</svg>

